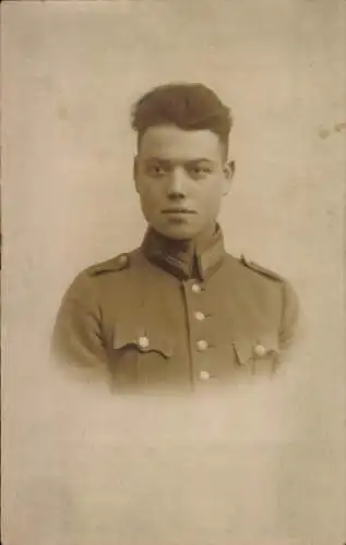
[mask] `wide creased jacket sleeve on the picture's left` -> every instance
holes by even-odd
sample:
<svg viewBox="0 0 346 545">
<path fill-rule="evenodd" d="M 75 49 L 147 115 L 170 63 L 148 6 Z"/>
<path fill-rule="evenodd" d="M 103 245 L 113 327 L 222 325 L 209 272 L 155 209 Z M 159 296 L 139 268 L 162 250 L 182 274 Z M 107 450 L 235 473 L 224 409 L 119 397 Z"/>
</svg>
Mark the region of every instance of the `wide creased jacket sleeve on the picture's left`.
<svg viewBox="0 0 346 545">
<path fill-rule="evenodd" d="M 61 363 L 86 367 L 107 363 L 95 289 L 94 279 L 83 271 L 63 296 L 51 339 L 52 354 Z"/>
</svg>

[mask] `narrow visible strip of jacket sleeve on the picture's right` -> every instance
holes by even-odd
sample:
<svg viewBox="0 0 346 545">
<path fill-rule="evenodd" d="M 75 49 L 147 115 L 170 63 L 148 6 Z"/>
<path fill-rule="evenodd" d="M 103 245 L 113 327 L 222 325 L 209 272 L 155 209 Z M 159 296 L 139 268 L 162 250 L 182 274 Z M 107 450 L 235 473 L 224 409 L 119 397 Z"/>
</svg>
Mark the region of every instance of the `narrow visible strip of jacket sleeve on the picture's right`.
<svg viewBox="0 0 346 545">
<path fill-rule="evenodd" d="M 290 348 L 300 329 L 300 306 L 298 296 L 286 280 L 283 282 L 283 314 L 279 330 L 282 350 Z"/>
</svg>

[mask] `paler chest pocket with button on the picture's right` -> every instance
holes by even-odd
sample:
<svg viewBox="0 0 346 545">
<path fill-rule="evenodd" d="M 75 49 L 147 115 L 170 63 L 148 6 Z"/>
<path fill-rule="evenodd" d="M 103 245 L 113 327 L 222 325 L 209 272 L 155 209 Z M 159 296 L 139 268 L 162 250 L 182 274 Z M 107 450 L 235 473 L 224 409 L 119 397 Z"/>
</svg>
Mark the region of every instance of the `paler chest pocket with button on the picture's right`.
<svg viewBox="0 0 346 545">
<path fill-rule="evenodd" d="M 234 340 L 237 363 L 255 375 L 272 375 L 279 363 L 278 339 L 275 335 L 259 335 Z"/>
</svg>

